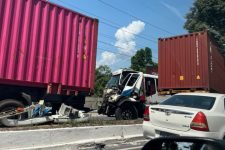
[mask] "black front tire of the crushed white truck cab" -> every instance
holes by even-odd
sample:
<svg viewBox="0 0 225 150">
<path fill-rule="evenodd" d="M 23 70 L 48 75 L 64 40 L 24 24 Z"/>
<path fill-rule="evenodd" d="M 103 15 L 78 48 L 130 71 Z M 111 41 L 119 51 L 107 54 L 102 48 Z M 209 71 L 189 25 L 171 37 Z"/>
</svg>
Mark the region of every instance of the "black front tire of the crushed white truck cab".
<svg viewBox="0 0 225 150">
<path fill-rule="evenodd" d="M 138 118 L 137 109 L 132 104 L 123 104 L 115 110 L 116 120 L 132 120 Z"/>
</svg>

